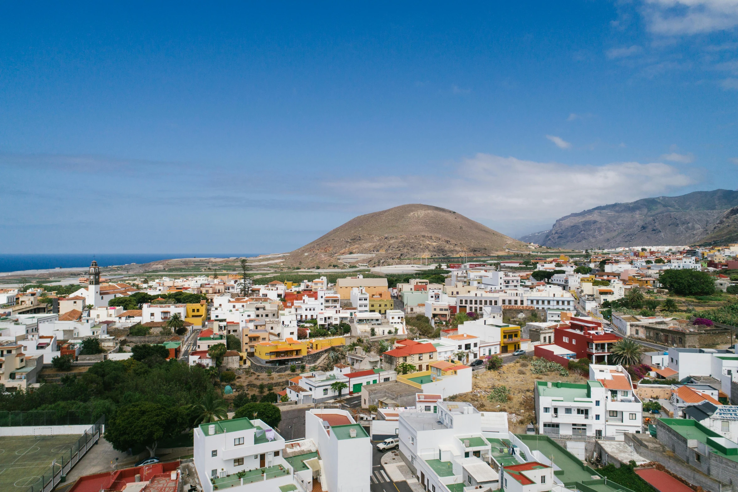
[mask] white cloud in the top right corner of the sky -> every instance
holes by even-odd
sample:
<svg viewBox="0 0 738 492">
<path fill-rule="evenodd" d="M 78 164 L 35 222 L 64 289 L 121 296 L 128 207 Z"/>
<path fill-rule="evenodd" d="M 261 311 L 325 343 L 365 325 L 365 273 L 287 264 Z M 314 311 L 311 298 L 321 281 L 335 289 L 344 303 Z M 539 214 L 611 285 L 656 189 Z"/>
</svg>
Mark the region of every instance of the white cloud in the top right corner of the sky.
<svg viewBox="0 0 738 492">
<path fill-rule="evenodd" d="M 736 0 L 646 0 L 646 23 L 652 33 L 693 35 L 738 25 Z"/>
</svg>

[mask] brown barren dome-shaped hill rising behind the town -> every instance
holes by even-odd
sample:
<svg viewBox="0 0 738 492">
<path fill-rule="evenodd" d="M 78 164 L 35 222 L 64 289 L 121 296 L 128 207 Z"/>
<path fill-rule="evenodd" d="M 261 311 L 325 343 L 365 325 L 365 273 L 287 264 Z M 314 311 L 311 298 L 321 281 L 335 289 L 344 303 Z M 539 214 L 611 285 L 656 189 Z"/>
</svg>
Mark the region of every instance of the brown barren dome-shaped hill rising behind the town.
<svg viewBox="0 0 738 492">
<path fill-rule="evenodd" d="M 292 251 L 286 264 L 326 266 L 341 264 L 339 256 L 366 254 L 373 256 L 358 262 L 373 266 L 421 257 L 483 256 L 506 247 L 520 249 L 527 245 L 461 213 L 415 203 L 351 219 Z"/>
</svg>

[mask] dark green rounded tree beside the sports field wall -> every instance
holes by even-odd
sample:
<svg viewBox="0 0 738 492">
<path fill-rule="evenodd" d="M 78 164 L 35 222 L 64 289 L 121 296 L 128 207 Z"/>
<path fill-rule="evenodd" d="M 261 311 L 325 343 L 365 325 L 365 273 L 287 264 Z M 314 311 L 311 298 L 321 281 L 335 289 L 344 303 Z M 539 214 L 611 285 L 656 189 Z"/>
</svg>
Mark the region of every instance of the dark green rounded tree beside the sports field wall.
<svg viewBox="0 0 738 492">
<path fill-rule="evenodd" d="M 177 409 L 143 401 L 120 407 L 106 424 L 105 438 L 118 451 L 144 446 L 154 456 L 159 440 L 180 430 Z"/>
</svg>

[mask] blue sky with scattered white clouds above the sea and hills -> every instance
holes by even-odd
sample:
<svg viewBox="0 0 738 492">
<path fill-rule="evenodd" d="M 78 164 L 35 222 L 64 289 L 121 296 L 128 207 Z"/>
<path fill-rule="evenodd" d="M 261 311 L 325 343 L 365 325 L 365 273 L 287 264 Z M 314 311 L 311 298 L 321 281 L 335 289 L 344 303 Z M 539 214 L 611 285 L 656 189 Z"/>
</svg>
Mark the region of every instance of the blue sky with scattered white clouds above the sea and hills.
<svg viewBox="0 0 738 492">
<path fill-rule="evenodd" d="M 738 188 L 738 0 L 7 4 L 2 253 L 292 250 L 422 202 L 511 236 Z"/>
</svg>

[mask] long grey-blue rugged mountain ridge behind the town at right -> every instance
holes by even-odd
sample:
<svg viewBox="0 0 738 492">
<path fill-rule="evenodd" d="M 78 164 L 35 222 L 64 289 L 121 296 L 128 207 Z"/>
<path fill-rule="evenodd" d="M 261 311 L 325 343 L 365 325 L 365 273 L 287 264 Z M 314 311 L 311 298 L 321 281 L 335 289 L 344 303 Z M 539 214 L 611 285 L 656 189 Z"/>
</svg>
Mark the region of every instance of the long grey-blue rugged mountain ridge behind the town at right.
<svg viewBox="0 0 738 492">
<path fill-rule="evenodd" d="M 645 198 L 572 213 L 556 220 L 551 230 L 521 239 L 571 249 L 692 245 L 712 235 L 717 240 L 732 237 L 736 222 L 731 217 L 735 214 L 725 217 L 725 213 L 737 206 L 738 191 L 731 190 Z"/>
</svg>

